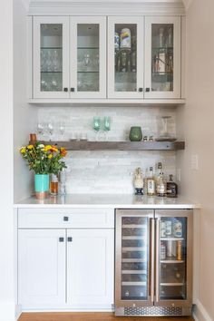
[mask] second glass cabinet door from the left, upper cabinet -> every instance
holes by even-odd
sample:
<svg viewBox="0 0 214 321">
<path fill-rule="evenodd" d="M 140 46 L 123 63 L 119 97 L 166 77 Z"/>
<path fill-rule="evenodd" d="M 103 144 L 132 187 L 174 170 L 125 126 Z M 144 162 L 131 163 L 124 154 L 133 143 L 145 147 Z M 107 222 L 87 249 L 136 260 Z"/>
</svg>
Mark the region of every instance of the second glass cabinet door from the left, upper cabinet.
<svg viewBox="0 0 214 321">
<path fill-rule="evenodd" d="M 106 97 L 106 18 L 71 17 L 71 98 Z"/>
</svg>

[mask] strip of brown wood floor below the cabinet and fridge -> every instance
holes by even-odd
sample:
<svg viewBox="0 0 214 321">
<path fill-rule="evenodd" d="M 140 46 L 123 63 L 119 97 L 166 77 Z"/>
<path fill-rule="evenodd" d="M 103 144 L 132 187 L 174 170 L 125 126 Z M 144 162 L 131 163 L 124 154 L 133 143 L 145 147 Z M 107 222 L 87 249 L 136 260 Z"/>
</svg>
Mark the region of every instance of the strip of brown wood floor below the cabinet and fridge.
<svg viewBox="0 0 214 321">
<path fill-rule="evenodd" d="M 194 321 L 191 316 L 114 316 L 112 313 L 23 313 L 18 321 Z"/>
</svg>

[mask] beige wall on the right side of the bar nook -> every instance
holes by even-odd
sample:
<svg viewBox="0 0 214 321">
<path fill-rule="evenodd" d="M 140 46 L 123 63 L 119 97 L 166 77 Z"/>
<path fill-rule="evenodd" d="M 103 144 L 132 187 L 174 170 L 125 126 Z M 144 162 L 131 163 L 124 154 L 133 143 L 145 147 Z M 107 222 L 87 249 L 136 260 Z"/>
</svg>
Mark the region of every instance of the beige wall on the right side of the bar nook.
<svg viewBox="0 0 214 321">
<path fill-rule="evenodd" d="M 187 13 L 187 104 L 180 108 L 187 148 L 180 152 L 181 190 L 199 200 L 199 301 L 214 320 L 214 1 L 193 0 Z M 199 156 L 199 170 L 191 156 Z M 181 163 L 181 166 L 180 166 Z M 199 317 L 199 321 L 201 321 Z"/>
</svg>

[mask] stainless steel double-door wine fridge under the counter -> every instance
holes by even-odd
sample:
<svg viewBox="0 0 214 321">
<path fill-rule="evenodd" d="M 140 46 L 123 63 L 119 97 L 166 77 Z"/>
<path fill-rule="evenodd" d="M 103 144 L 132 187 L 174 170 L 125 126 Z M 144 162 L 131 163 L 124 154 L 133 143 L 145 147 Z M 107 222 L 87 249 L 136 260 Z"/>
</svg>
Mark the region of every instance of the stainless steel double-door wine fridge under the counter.
<svg viewBox="0 0 214 321">
<path fill-rule="evenodd" d="M 189 316 L 192 210 L 117 209 L 116 316 Z"/>
</svg>

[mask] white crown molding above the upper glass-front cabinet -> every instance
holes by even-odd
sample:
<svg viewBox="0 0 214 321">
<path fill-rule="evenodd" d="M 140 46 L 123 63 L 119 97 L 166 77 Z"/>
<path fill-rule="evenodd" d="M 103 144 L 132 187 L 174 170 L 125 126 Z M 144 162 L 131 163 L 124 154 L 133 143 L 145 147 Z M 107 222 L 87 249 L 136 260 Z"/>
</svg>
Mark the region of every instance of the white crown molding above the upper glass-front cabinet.
<svg viewBox="0 0 214 321">
<path fill-rule="evenodd" d="M 34 1 L 28 15 L 185 15 L 180 1 Z"/>
</svg>

